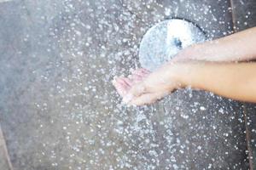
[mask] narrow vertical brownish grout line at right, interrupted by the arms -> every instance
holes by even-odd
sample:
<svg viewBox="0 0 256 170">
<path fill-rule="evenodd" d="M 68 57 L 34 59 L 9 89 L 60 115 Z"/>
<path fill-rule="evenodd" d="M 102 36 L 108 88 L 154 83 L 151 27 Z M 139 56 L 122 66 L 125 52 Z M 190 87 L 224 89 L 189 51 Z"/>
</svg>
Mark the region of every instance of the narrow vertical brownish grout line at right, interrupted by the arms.
<svg viewBox="0 0 256 170">
<path fill-rule="evenodd" d="M 236 6 L 234 4 L 234 0 L 230 0 L 230 7 L 231 7 L 231 13 L 232 13 L 232 21 L 233 21 L 233 31 L 237 32 L 237 26 L 236 26 Z M 250 144 L 251 141 L 251 136 L 250 136 L 250 131 L 247 126 L 247 105 L 245 103 L 242 104 L 242 111 L 243 111 L 243 117 L 244 117 L 244 122 L 245 122 L 245 128 L 246 128 L 246 141 L 247 141 L 247 151 L 248 151 L 248 161 L 249 161 L 249 168 L 250 170 L 253 170 L 253 150 Z"/>
</svg>

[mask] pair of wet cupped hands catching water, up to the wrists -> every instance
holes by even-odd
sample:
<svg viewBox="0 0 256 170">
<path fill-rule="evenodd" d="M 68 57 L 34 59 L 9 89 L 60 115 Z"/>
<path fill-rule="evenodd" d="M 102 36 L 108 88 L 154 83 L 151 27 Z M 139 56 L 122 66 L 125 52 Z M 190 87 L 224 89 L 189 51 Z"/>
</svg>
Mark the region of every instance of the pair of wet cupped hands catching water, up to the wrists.
<svg viewBox="0 0 256 170">
<path fill-rule="evenodd" d="M 130 77 L 119 77 L 113 85 L 128 105 L 149 105 L 164 98 L 180 87 L 180 83 L 173 77 L 170 65 L 163 65 L 157 71 L 149 73 L 139 70 L 140 77 L 132 74 Z M 135 81 L 137 77 L 137 81 Z"/>
</svg>

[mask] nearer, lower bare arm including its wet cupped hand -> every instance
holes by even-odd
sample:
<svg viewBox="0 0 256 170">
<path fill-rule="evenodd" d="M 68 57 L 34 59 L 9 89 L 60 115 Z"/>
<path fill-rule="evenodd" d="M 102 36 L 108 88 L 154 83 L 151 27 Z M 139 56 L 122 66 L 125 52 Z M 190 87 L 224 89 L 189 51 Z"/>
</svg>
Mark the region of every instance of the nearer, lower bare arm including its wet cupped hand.
<svg viewBox="0 0 256 170">
<path fill-rule="evenodd" d="M 199 88 L 230 99 L 256 103 L 256 63 L 187 62 L 167 64 L 128 94 L 133 105 L 146 105 L 177 88 Z"/>
</svg>

